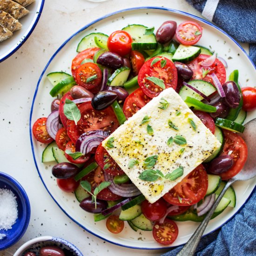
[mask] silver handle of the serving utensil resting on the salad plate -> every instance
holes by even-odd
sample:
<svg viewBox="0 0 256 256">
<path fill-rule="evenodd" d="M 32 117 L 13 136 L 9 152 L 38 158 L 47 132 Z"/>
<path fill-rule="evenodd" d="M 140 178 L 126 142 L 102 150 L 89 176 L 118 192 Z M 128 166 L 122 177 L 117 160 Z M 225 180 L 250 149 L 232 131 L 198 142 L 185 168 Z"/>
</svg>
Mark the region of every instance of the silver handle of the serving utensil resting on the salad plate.
<svg viewBox="0 0 256 256">
<path fill-rule="evenodd" d="M 207 227 L 211 216 L 213 215 L 215 209 L 217 208 L 219 202 L 221 201 L 223 195 L 229 188 L 229 186 L 234 182 L 234 180 L 230 179 L 224 188 L 222 189 L 222 192 L 220 195 L 217 197 L 216 201 L 214 202 L 213 206 L 205 216 L 204 220 L 201 222 L 199 227 L 195 230 L 195 233 L 190 237 L 189 241 L 184 245 L 182 250 L 177 254 L 177 256 L 193 256 L 195 254 L 195 250 L 197 248 L 197 245 L 202 237 L 202 234 Z"/>
</svg>

